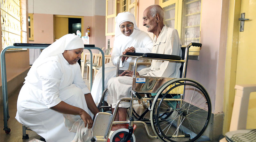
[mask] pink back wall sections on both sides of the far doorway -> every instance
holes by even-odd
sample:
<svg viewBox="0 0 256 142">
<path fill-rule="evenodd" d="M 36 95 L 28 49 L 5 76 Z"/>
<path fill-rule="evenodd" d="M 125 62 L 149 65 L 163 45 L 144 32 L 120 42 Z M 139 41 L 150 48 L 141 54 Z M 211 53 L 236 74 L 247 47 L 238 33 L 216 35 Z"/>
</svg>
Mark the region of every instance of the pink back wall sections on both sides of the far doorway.
<svg viewBox="0 0 256 142">
<path fill-rule="evenodd" d="M 29 43 L 53 43 L 53 14 L 34 13 L 33 18 L 34 41 L 29 41 Z M 84 16 L 84 31 L 81 31 L 82 35 L 85 36 L 86 29 L 90 26 L 90 44 L 95 44 L 99 48 L 104 47 L 106 41 L 105 26 L 102 26 L 102 23 L 105 24 L 105 16 Z M 96 50 L 92 52 L 98 53 Z"/>
</svg>

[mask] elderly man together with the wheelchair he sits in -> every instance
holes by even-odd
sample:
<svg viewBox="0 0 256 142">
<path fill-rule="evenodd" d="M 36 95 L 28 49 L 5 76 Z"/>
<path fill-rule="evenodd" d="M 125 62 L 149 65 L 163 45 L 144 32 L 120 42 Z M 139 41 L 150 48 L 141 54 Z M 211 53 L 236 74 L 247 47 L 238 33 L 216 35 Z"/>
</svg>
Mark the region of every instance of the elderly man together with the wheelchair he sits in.
<svg viewBox="0 0 256 142">
<path fill-rule="evenodd" d="M 135 141 L 133 123 L 143 124 L 149 137 L 166 142 L 196 141 L 206 129 L 211 115 L 210 97 L 201 84 L 185 78 L 188 48 L 201 44 L 190 43 L 181 48 L 177 30 L 164 26 L 163 17 L 159 5 L 151 5 L 144 11 L 143 25 L 156 35 L 152 52 L 127 52 L 119 57 L 119 61 L 122 57 L 137 58 L 133 71 L 124 71 L 109 80 L 107 102 L 113 115 L 106 112 L 96 115 L 91 141 Z M 151 67 L 137 72 L 140 59 L 152 60 Z M 144 106 L 144 111 L 134 107 L 136 101 L 140 102 L 137 106 Z M 156 136 L 151 136 L 147 123 Z"/>
</svg>

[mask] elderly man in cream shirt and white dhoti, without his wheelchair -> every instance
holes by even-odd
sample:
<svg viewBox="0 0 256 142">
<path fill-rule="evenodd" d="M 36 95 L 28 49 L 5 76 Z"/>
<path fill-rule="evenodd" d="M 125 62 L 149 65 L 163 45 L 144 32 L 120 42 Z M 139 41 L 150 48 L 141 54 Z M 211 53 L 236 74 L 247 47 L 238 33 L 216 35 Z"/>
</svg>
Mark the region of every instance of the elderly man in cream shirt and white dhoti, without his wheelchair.
<svg viewBox="0 0 256 142">
<path fill-rule="evenodd" d="M 155 38 L 151 53 L 181 56 L 181 41 L 176 29 L 164 25 L 164 10 L 160 5 L 151 5 L 143 12 L 143 26 L 148 32 L 153 33 Z M 137 76 L 179 78 L 180 63 L 152 60 L 151 66 L 137 71 Z M 110 78 L 108 81 L 108 104 L 112 112 L 116 103 L 123 97 L 131 97 L 133 71 L 124 71 L 119 77 Z M 121 88 L 121 89 L 120 89 Z M 127 108 L 130 102 L 122 101 L 118 105 L 118 111 L 114 121 L 126 121 Z M 115 124 L 112 131 L 126 128 L 126 124 Z"/>
</svg>

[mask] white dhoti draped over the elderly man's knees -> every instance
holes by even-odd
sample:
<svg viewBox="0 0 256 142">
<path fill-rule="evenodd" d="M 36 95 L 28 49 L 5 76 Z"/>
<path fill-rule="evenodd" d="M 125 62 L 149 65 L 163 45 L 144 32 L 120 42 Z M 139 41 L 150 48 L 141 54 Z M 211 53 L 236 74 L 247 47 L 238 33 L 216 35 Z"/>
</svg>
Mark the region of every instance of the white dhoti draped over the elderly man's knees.
<svg viewBox="0 0 256 142">
<path fill-rule="evenodd" d="M 110 78 L 108 81 L 108 104 L 112 105 L 112 108 L 116 107 L 118 100 L 124 97 L 131 97 L 132 91 L 132 77 L 116 77 Z M 121 101 L 119 108 L 129 108 L 130 102 Z"/>
</svg>

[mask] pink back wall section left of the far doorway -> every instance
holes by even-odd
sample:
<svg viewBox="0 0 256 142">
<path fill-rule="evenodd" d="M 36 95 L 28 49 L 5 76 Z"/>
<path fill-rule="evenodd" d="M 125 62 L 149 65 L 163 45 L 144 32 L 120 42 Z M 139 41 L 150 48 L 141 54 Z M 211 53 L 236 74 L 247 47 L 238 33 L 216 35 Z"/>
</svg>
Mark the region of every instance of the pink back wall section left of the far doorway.
<svg viewBox="0 0 256 142">
<path fill-rule="evenodd" d="M 34 41 L 29 43 L 53 43 L 53 15 L 33 14 L 34 18 Z"/>
</svg>

